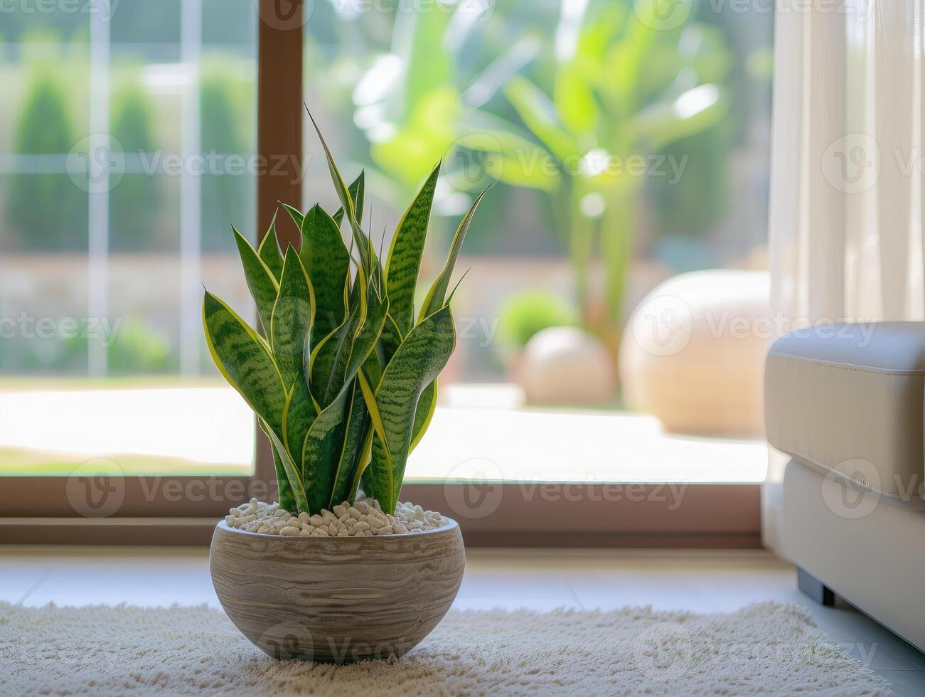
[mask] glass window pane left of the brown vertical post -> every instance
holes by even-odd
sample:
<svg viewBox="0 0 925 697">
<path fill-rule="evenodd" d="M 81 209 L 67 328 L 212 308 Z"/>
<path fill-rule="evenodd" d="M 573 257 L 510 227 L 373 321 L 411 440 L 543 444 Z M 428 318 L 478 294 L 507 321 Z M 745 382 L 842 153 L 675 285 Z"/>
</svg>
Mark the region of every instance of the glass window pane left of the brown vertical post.
<svg viewBox="0 0 925 697">
<path fill-rule="evenodd" d="M 0 44 L 0 473 L 245 473 L 253 420 L 203 342 L 248 311 L 249 0 L 22 4 Z"/>
</svg>

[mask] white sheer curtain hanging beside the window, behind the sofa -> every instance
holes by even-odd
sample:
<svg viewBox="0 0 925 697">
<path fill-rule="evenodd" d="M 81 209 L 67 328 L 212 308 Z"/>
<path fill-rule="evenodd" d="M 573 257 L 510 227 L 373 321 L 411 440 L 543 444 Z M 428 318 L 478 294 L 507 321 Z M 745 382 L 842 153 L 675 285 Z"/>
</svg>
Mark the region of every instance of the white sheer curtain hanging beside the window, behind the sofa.
<svg viewBox="0 0 925 697">
<path fill-rule="evenodd" d="M 771 305 L 796 322 L 922 319 L 925 0 L 778 0 Z M 786 460 L 762 491 L 778 548 Z"/>
</svg>

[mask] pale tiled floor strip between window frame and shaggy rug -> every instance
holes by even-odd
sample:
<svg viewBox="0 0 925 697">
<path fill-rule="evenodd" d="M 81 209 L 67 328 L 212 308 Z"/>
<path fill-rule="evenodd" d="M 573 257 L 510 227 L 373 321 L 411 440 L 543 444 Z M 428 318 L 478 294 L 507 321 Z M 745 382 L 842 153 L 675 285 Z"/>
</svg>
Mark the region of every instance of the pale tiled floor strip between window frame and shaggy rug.
<svg viewBox="0 0 925 697">
<path fill-rule="evenodd" d="M 0 600 L 218 605 L 204 549 L 0 548 Z M 765 600 L 806 605 L 897 694 L 925 694 L 925 654 L 845 604 L 810 603 L 796 591 L 793 566 L 762 552 L 475 549 L 455 607 L 724 612 Z"/>
</svg>

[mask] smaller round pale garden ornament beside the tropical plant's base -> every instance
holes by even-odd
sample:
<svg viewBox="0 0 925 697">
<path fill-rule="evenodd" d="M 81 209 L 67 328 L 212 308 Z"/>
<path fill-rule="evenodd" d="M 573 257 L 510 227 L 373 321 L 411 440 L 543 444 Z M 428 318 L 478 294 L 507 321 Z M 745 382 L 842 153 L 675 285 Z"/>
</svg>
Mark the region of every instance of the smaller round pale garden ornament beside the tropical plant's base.
<svg viewBox="0 0 925 697">
<path fill-rule="evenodd" d="M 616 390 L 607 347 L 575 327 L 537 331 L 526 343 L 518 374 L 527 402 L 534 405 L 597 405 Z"/>
</svg>

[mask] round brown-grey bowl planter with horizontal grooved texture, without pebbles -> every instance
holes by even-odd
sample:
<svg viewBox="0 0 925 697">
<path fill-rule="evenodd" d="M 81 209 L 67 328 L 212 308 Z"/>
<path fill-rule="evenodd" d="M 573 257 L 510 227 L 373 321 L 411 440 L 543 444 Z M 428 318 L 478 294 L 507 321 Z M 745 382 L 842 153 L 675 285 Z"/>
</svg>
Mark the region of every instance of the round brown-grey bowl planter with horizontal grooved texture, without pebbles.
<svg viewBox="0 0 925 697">
<path fill-rule="evenodd" d="M 218 523 L 209 567 L 228 617 L 281 659 L 401 656 L 447 614 L 465 551 L 454 520 L 371 537 L 282 537 Z"/>
</svg>

